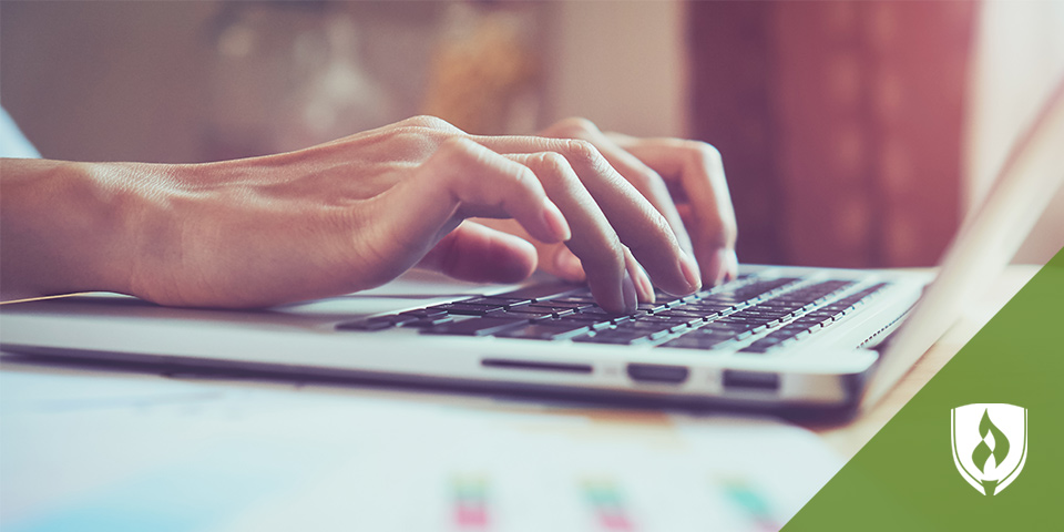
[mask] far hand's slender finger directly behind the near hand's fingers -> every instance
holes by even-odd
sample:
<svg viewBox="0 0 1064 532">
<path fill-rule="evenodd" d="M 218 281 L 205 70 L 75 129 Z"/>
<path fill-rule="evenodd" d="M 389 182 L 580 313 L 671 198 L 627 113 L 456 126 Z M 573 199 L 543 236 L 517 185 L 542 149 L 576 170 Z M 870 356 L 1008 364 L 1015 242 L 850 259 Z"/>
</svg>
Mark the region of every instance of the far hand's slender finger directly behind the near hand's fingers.
<svg viewBox="0 0 1064 532">
<path fill-rule="evenodd" d="M 657 172 L 618 146 L 590 120 L 566 119 L 548 127 L 543 133 L 559 139 L 580 139 L 590 142 L 614 170 L 635 186 L 651 202 L 651 205 L 654 205 L 657 212 L 662 213 L 676 235 L 679 246 L 685 252 L 693 253 L 694 248 L 690 237 L 687 235 L 687 229 L 684 227 L 684 222 L 676 211 L 668 187 Z"/>
</svg>

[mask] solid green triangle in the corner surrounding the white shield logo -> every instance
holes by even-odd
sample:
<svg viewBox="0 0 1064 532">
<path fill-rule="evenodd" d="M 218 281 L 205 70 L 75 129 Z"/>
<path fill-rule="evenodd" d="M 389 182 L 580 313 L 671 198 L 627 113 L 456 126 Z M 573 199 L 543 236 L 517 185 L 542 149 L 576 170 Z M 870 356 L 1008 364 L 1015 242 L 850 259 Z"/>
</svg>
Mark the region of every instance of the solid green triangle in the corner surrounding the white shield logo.
<svg viewBox="0 0 1064 532">
<path fill-rule="evenodd" d="M 993 497 L 951 456 L 950 410 L 1027 409 L 1026 463 Z M 785 526 L 799 531 L 1064 530 L 1064 249 Z"/>
</svg>

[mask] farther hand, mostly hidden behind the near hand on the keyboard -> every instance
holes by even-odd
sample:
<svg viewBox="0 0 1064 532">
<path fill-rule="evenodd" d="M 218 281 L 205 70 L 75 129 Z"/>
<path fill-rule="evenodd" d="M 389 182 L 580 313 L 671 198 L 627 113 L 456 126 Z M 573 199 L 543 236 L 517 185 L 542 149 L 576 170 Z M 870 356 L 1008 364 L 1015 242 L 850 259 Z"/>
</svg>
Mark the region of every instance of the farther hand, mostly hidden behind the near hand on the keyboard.
<svg viewBox="0 0 1064 532">
<path fill-rule="evenodd" d="M 735 212 L 716 149 L 678 139 L 607 134 L 583 119 L 563 120 L 542 134 L 594 145 L 665 217 L 681 247 L 697 259 L 706 283 L 717 285 L 738 274 Z M 490 225 L 526 236 L 510 221 Z M 540 268 L 565 279 L 584 279 L 580 259 L 565 246 L 538 243 L 536 249 Z"/>
</svg>

